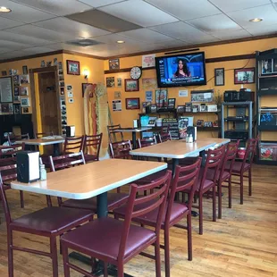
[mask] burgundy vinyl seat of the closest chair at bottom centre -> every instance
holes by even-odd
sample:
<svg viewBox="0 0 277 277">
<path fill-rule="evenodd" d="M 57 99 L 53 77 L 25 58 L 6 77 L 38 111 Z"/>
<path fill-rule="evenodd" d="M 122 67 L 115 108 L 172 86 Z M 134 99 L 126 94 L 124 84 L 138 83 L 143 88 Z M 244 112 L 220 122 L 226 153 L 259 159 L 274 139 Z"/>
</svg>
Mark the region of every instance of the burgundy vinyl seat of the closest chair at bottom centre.
<svg viewBox="0 0 277 277">
<path fill-rule="evenodd" d="M 72 232 L 64 234 L 62 242 L 69 248 L 81 249 L 82 253 L 96 258 L 105 257 L 105 261 L 117 261 L 121 244 L 124 222 L 103 217 L 89 222 Z M 124 258 L 141 252 L 141 246 L 151 245 L 155 241 L 155 231 L 130 225 L 130 232 L 126 242 Z"/>
</svg>

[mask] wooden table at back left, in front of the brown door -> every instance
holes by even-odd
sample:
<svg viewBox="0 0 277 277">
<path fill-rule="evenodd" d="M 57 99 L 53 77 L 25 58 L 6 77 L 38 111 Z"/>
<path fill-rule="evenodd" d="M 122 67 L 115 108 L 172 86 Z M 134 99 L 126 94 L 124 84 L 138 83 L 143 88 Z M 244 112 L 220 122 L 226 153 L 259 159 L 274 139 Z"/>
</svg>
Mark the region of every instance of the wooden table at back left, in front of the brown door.
<svg viewBox="0 0 277 277">
<path fill-rule="evenodd" d="M 21 144 L 25 143 L 26 145 L 29 146 L 49 146 L 53 145 L 53 153 L 54 155 L 60 155 L 60 150 L 59 150 L 59 144 L 64 142 L 64 138 L 61 136 L 53 136 L 53 137 L 46 137 L 46 138 L 41 138 L 41 139 L 22 139 L 22 140 L 17 140 L 15 143 Z"/>
</svg>

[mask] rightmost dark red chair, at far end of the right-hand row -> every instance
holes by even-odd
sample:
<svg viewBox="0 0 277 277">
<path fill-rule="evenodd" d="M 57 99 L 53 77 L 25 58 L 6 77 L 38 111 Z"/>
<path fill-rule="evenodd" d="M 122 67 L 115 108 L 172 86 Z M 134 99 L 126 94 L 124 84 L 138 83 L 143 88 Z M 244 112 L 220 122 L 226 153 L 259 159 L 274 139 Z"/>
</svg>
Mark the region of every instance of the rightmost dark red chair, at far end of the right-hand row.
<svg viewBox="0 0 277 277">
<path fill-rule="evenodd" d="M 248 139 L 246 154 L 242 161 L 235 161 L 231 174 L 239 176 L 239 182 L 231 180 L 233 184 L 239 184 L 240 187 L 240 204 L 243 204 L 243 178 L 248 178 L 248 195 L 252 195 L 252 164 L 256 155 L 256 145 L 258 139 Z M 226 169 L 230 169 L 230 163 L 226 165 Z M 248 175 L 245 173 L 248 172 Z"/>
</svg>

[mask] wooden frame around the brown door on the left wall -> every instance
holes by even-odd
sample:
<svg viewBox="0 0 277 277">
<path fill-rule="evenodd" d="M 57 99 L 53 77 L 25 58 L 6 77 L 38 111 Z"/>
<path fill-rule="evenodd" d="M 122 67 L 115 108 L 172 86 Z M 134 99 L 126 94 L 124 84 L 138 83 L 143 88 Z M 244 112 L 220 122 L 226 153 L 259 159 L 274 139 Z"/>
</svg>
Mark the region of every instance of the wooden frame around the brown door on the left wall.
<svg viewBox="0 0 277 277">
<path fill-rule="evenodd" d="M 46 72 L 55 72 L 55 87 L 56 87 L 56 98 L 57 98 L 57 119 L 58 119 L 58 130 L 62 134 L 62 115 L 61 115 L 61 105 L 60 105 L 60 87 L 59 87 L 59 75 L 58 75 L 58 66 L 49 66 L 42 68 L 33 68 L 29 69 L 29 82 L 30 82 L 30 95 L 32 103 L 32 122 L 34 123 L 34 133 L 38 133 L 38 121 L 37 114 L 40 111 L 37 111 L 36 105 L 36 91 L 35 91 L 35 74 L 36 73 L 46 73 Z"/>
</svg>

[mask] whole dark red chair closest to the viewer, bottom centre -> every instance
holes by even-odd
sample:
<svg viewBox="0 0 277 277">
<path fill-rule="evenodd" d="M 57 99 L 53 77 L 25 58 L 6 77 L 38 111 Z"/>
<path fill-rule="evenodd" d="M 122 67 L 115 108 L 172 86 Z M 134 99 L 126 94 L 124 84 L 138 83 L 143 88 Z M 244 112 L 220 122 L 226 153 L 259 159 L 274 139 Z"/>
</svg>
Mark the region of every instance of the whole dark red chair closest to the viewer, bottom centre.
<svg viewBox="0 0 277 277">
<path fill-rule="evenodd" d="M 117 276 L 123 277 L 124 264 L 153 244 L 155 245 L 155 276 L 160 277 L 160 229 L 171 175 L 172 172 L 167 172 L 164 178 L 144 186 L 131 184 L 124 221 L 102 217 L 64 234 L 61 239 L 64 276 L 70 276 L 70 269 L 86 276 L 94 276 L 69 262 L 69 248 L 104 261 L 105 277 L 108 276 L 106 270 L 108 263 L 116 265 Z M 146 189 L 155 189 L 155 192 L 147 197 L 139 196 L 139 192 Z M 142 204 L 144 206 L 142 209 L 137 208 Z M 155 209 L 158 209 L 158 213 L 154 230 L 131 224 L 133 218 L 143 216 Z"/>
</svg>

